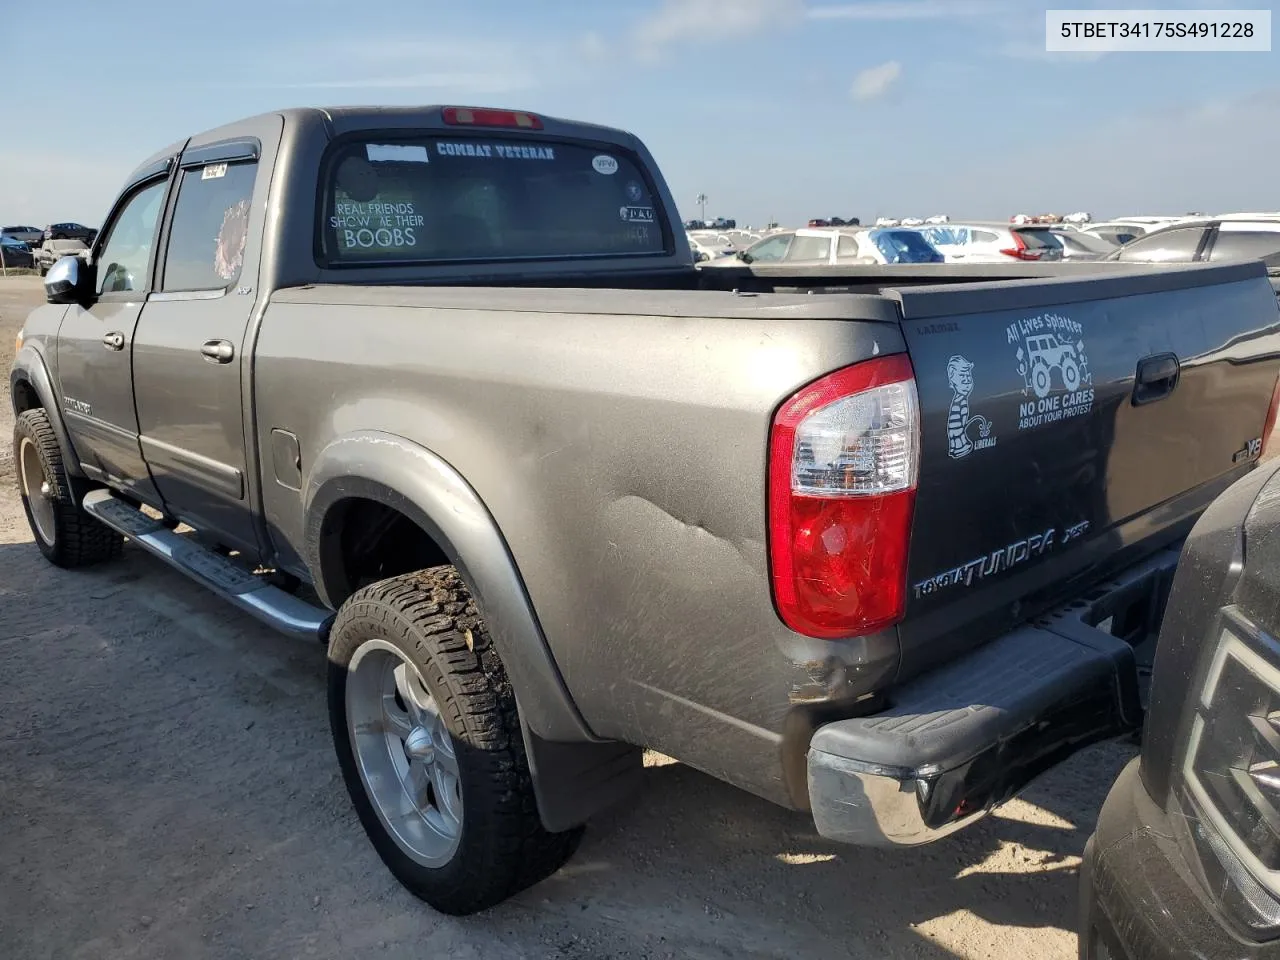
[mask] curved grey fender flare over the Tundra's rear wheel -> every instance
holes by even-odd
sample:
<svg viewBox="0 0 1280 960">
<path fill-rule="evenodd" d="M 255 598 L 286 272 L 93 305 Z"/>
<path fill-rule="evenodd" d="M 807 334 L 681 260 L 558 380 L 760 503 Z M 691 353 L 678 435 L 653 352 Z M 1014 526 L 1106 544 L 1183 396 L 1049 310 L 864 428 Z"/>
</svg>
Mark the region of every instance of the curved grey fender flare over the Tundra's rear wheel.
<svg viewBox="0 0 1280 960">
<path fill-rule="evenodd" d="M 383 503 L 407 516 L 457 566 L 489 622 L 534 733 L 561 742 L 596 741 L 561 678 L 502 534 L 453 467 L 424 447 L 374 430 L 339 438 L 320 452 L 303 488 L 301 552 L 329 605 L 340 599 L 343 575 L 326 518 L 351 498 Z"/>
</svg>

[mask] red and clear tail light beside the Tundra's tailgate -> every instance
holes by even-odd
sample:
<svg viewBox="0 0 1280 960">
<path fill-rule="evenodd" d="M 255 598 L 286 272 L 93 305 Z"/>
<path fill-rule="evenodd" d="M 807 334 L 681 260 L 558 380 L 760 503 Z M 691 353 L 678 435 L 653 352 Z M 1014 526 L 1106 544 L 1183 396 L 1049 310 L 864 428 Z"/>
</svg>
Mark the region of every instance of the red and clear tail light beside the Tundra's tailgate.
<svg viewBox="0 0 1280 960">
<path fill-rule="evenodd" d="M 863 636 L 906 605 L 919 404 L 905 355 L 815 380 L 773 417 L 769 562 L 782 621 Z"/>
</svg>

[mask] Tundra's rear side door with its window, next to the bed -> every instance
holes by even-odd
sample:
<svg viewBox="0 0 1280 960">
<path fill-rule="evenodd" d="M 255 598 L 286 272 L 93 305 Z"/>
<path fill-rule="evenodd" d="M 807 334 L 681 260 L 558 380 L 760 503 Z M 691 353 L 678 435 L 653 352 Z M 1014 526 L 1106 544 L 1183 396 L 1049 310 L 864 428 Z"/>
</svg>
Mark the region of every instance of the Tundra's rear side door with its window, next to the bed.
<svg viewBox="0 0 1280 960">
<path fill-rule="evenodd" d="M 243 351 L 256 276 L 242 274 L 257 248 L 248 242 L 257 156 L 253 141 L 183 154 L 157 289 L 133 338 L 142 456 L 165 508 L 255 554 Z"/>
</svg>

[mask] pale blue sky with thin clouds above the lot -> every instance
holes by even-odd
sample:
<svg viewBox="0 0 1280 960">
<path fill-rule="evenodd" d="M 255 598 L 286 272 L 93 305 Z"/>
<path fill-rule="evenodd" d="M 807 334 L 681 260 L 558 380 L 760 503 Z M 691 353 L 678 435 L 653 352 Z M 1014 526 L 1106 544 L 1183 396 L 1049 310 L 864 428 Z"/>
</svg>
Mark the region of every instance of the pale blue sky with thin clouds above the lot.
<svg viewBox="0 0 1280 960">
<path fill-rule="evenodd" d="M 0 61 L 29 68 L 0 95 L 0 221 L 96 224 L 187 133 L 378 102 L 625 127 L 685 216 L 705 192 L 739 223 L 1280 209 L 1280 54 L 1043 50 L 1046 8 L 1137 5 L 13 0 Z"/>
</svg>

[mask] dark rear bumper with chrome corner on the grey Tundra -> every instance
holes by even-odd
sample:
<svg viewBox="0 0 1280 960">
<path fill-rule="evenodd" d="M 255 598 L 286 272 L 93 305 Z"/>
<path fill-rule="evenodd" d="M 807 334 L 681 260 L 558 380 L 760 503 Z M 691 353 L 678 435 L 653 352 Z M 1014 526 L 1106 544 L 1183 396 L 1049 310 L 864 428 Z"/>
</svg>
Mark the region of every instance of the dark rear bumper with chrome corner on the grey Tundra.
<svg viewBox="0 0 1280 960">
<path fill-rule="evenodd" d="M 808 754 L 818 832 L 860 846 L 928 844 L 1037 776 L 1142 723 L 1128 643 L 1093 623 L 1153 628 L 1170 549 L 1089 594 L 895 691 L 872 717 L 819 727 Z"/>
</svg>

